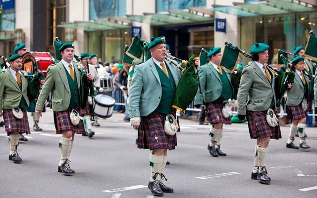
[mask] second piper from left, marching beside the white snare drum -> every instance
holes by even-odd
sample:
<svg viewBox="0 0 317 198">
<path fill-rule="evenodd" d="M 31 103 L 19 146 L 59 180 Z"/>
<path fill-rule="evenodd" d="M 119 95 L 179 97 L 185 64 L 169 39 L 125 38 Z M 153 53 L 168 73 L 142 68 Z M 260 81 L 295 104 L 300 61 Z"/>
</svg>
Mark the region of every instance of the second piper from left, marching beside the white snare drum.
<svg viewBox="0 0 317 198">
<path fill-rule="evenodd" d="M 41 114 L 45 100 L 52 92 L 56 134 L 62 134 L 59 141 L 61 157 L 58 163 L 58 172 L 72 175 L 75 171 L 70 168 L 69 155 L 74 145 L 74 136 L 75 133 L 82 134 L 84 132 L 83 122 L 79 119 L 77 112 L 80 108 L 80 71 L 77 68 L 79 65 L 72 61 L 74 44 L 64 43 L 59 48 L 59 52 L 62 60 L 48 68 L 48 75 L 37 100 L 35 112 Z M 89 73 L 87 77 L 89 80 L 94 78 L 92 73 Z"/>
</svg>

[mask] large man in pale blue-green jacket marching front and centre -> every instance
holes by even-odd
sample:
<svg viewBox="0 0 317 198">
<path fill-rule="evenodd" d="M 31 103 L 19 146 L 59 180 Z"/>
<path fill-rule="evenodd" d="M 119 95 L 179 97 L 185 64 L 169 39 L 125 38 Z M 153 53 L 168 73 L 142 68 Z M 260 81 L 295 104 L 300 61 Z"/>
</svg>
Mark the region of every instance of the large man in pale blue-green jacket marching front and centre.
<svg viewBox="0 0 317 198">
<path fill-rule="evenodd" d="M 152 38 L 151 41 L 148 49 L 152 58 L 135 66 L 129 90 L 129 111 L 131 125 L 138 128 L 138 148 L 151 150 L 148 188 L 154 195 L 163 196 L 163 192 L 173 192 L 161 181 L 164 178 L 167 149 L 172 150 L 177 146 L 176 134 L 167 135 L 163 123 L 166 114 L 175 115 L 172 103 L 181 73 L 165 60 L 165 38 Z"/>
</svg>

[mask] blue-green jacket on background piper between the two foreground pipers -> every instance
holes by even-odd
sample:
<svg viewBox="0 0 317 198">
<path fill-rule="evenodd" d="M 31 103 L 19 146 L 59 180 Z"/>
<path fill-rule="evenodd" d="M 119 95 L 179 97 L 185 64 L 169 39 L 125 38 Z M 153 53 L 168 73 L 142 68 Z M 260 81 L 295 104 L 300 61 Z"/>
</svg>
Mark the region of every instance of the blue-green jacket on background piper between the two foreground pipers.
<svg viewBox="0 0 317 198">
<path fill-rule="evenodd" d="M 222 70 L 222 73 L 223 72 L 224 70 Z M 208 62 L 207 64 L 200 66 L 198 73 L 203 94 L 199 93 L 199 89 L 197 90 L 197 94 L 195 96 L 195 105 L 203 104 L 204 102 L 212 102 L 218 99 L 222 93 L 222 82 L 218 71 L 212 66 L 210 62 Z M 226 73 L 226 75 L 229 80 L 232 96 L 234 96 L 231 76 L 229 73 Z"/>
</svg>

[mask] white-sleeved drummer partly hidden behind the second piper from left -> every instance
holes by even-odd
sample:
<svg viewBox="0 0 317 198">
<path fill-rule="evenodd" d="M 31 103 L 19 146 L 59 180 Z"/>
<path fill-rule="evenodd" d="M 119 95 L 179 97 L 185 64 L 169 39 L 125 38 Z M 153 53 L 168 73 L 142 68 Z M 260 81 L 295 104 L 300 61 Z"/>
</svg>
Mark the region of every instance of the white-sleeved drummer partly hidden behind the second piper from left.
<svg viewBox="0 0 317 198">
<path fill-rule="evenodd" d="M 89 72 L 93 74 L 94 76 L 94 86 L 100 87 L 100 78 L 97 73 L 97 70 L 93 65 L 88 64 L 88 53 L 81 53 L 80 57 L 82 59 L 83 67 L 85 68 L 86 72 L 88 73 L 88 67 L 89 65 Z M 95 132 L 91 129 L 92 123 L 91 123 L 91 116 L 94 113 L 93 112 L 93 106 L 87 101 L 87 106 L 84 109 L 80 110 L 81 116 L 84 117 L 84 127 L 85 131 L 82 133 L 83 136 L 88 136 L 89 138 L 92 138 L 95 135 Z"/>
</svg>

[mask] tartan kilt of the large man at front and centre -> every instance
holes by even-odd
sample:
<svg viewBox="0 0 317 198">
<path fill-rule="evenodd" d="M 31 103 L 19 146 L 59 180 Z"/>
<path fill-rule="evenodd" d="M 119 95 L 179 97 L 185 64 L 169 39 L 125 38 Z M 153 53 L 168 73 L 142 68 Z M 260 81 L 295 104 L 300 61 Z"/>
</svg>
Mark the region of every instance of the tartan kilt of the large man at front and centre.
<svg viewBox="0 0 317 198">
<path fill-rule="evenodd" d="M 175 149 L 177 146 L 176 133 L 173 136 L 165 133 L 164 118 L 165 115 L 161 115 L 156 111 L 141 118 L 143 124 L 141 123 L 138 129 L 138 148 L 150 150 L 159 148 Z M 178 122 L 177 124 L 179 126 Z M 158 137 L 157 140 L 155 139 L 156 137 Z"/>
</svg>

